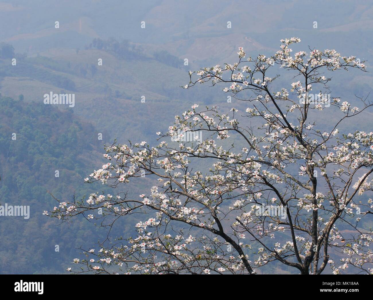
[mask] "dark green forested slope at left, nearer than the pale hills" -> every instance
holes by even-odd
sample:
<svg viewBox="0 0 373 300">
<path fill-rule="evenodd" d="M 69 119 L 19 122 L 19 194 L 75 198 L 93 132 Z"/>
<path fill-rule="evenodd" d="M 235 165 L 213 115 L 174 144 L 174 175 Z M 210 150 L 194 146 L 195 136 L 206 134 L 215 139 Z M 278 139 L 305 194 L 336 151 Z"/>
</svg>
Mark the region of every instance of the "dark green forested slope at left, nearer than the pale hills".
<svg viewBox="0 0 373 300">
<path fill-rule="evenodd" d="M 42 218 L 52 203 L 47 190 L 59 198 L 83 195 L 82 178 L 103 143 L 72 111 L 9 97 L 0 97 L 0 106 L 0 204 L 30 206 L 28 220 L 0 220 L 0 272 L 63 272 L 76 245 L 96 240 L 97 230 L 86 220 L 69 227 Z"/>
</svg>

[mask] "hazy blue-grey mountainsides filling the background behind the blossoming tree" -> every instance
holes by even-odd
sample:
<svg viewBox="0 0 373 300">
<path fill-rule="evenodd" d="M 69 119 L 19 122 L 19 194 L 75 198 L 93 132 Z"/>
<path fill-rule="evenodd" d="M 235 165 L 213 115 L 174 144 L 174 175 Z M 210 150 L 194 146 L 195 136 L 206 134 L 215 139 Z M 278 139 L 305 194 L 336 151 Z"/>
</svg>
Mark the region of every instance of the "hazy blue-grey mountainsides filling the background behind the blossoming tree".
<svg viewBox="0 0 373 300">
<path fill-rule="evenodd" d="M 74 191 L 81 196 L 101 188 L 88 188 L 82 180 L 103 164 L 104 143 L 151 143 L 193 103 L 217 104 L 222 111 L 247 107 L 227 103 L 223 87 L 180 88 L 189 70 L 233 63 L 240 46 L 247 55 L 269 56 L 281 38 L 293 36 L 301 38 L 294 47 L 301 50 L 335 48 L 361 60 L 373 54 L 373 4 L 356 1 L 14 0 L 0 3 L 0 25 L 0 204 L 32 205 L 29 222 L 0 220 L 0 273 L 63 272 L 76 247 L 97 241 L 100 231 L 86 220 L 54 227 L 42 212 L 53 205 L 46 190 L 72 197 Z M 333 76 L 333 97 L 351 102 L 373 87 L 371 73 Z M 282 78 L 289 88 L 291 75 Z M 74 107 L 45 105 L 50 92 L 75 94 Z M 325 128 L 336 118 L 327 111 L 317 116 Z M 371 127 L 367 112 L 360 124 L 339 129 Z M 13 132 L 17 141 L 11 140 Z M 138 195 L 144 186 L 131 193 Z M 130 234 L 132 221 L 113 235 Z"/>
</svg>

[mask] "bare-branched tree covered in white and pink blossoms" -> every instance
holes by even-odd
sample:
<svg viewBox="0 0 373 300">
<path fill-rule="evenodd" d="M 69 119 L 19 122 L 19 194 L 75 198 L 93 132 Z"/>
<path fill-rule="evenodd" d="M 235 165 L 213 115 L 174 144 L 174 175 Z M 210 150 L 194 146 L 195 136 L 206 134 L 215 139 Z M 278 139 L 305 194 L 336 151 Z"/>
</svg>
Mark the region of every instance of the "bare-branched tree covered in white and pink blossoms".
<svg viewBox="0 0 373 300">
<path fill-rule="evenodd" d="M 135 199 L 124 192 L 72 202 L 55 198 L 58 207 L 44 214 L 61 221 L 84 215 L 111 228 L 120 217 L 142 213 L 136 237 L 100 243 L 99 251 L 81 249 L 83 257 L 74 259 L 79 272 L 255 274 L 280 262 L 301 274 L 320 274 L 327 265 L 334 274 L 349 267 L 373 273 L 372 228 L 360 226 L 372 223 L 366 192 L 373 190 L 373 133 L 341 134 L 337 128 L 372 104 L 361 99 L 359 110 L 330 98 L 331 78 L 323 75 L 350 67 L 365 71 L 364 61 L 335 50 L 291 56 L 289 46 L 300 40 L 281 42 L 272 57 L 245 59 L 240 47 L 233 65 L 189 72 L 184 88 L 221 84 L 248 102 L 245 112 L 220 114 L 216 106 L 195 104 L 157 133 L 158 145 L 107 146 L 109 162 L 85 179 L 123 190 L 138 177 L 154 177 L 158 183 L 150 191 Z M 268 75 L 276 66 L 298 80 L 276 89 L 279 75 Z M 320 94 L 311 94 L 315 87 Z M 311 119 L 323 109 L 340 115 L 328 132 Z M 261 125 L 254 128 L 256 120 Z M 229 138 L 243 148 L 220 141 Z M 194 170 L 202 159 L 211 163 L 206 173 Z M 349 227 L 348 236 L 341 226 Z"/>
</svg>

